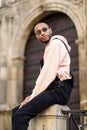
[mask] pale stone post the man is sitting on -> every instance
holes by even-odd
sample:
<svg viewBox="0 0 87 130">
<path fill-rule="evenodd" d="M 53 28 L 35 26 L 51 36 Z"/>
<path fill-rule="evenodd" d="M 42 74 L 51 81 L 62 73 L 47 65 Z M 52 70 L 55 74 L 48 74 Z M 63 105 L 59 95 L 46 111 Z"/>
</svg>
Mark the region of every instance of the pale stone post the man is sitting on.
<svg viewBox="0 0 87 130">
<path fill-rule="evenodd" d="M 69 110 L 67 106 L 53 105 L 32 119 L 29 130 L 67 130 L 66 117 L 62 110 Z"/>
</svg>

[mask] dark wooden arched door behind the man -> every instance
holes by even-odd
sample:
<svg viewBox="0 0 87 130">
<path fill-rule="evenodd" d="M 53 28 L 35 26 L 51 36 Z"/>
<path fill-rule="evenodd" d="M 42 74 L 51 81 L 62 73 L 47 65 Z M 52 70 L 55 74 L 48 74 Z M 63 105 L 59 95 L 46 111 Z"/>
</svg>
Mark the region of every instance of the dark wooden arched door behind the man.
<svg viewBox="0 0 87 130">
<path fill-rule="evenodd" d="M 74 89 L 68 103 L 71 109 L 80 108 L 80 96 L 79 96 L 79 63 L 78 63 L 78 47 L 75 44 L 77 39 L 77 33 L 72 20 L 63 13 L 52 13 L 46 16 L 41 21 L 48 23 L 52 29 L 53 34 L 63 35 L 67 38 L 72 50 L 70 52 L 72 63 L 71 69 L 74 75 Z M 24 90 L 23 96 L 31 94 L 35 85 L 35 80 L 39 74 L 39 61 L 43 55 L 44 46 L 35 38 L 32 31 L 29 36 L 26 48 L 25 48 L 25 64 L 24 64 Z"/>
</svg>

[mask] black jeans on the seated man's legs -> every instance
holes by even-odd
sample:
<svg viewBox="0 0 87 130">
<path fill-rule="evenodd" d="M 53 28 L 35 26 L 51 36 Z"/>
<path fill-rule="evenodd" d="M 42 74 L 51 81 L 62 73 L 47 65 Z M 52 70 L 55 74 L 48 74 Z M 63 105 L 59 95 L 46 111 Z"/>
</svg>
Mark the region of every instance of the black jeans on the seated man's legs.
<svg viewBox="0 0 87 130">
<path fill-rule="evenodd" d="M 66 82 L 65 85 L 65 87 L 67 88 L 71 87 L 70 84 Z M 66 99 L 67 92 L 69 91 L 67 91 L 67 88 L 66 92 L 64 90 L 64 93 L 66 94 L 65 96 L 65 94 L 63 94 L 63 92 L 60 90 L 59 86 L 57 86 L 57 89 L 54 89 L 52 84 L 51 87 L 53 87 L 53 89 L 49 86 L 46 91 L 33 98 L 22 108 L 19 109 L 19 106 L 14 108 L 12 111 L 12 130 L 27 130 L 29 121 L 37 114 L 42 112 L 44 109 L 48 108 L 53 104 L 65 105 L 68 101 Z M 62 84 L 62 86 L 64 87 L 64 83 Z"/>
</svg>

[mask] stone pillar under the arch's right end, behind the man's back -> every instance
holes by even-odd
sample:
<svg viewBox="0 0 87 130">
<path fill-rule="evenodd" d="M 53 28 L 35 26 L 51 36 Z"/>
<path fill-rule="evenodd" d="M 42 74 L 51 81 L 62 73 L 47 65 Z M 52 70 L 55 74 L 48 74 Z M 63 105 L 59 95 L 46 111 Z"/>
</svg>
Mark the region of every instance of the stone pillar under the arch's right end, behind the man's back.
<svg viewBox="0 0 87 130">
<path fill-rule="evenodd" d="M 87 62 L 86 48 L 83 40 L 76 41 L 79 49 L 80 107 L 87 109 Z"/>
</svg>

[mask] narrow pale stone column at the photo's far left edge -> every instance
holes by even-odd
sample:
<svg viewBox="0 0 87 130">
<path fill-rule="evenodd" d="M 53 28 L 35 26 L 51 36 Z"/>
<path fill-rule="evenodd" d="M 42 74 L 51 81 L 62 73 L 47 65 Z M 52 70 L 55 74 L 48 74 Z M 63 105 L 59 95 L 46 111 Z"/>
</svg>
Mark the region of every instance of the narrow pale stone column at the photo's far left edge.
<svg viewBox="0 0 87 130">
<path fill-rule="evenodd" d="M 1 16 L 0 21 L 0 108 L 6 104 L 6 86 L 7 86 L 7 24 L 6 17 Z"/>
</svg>

